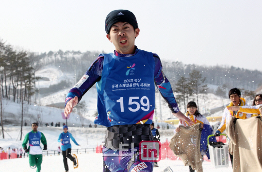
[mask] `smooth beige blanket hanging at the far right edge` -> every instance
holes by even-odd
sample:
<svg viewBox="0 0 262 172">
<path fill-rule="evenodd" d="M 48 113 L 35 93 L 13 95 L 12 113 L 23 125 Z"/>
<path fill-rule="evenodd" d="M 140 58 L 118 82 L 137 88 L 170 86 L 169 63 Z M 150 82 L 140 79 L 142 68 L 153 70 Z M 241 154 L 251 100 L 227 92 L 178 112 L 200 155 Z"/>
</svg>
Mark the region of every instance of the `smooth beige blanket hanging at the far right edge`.
<svg viewBox="0 0 262 172">
<path fill-rule="evenodd" d="M 256 116 L 229 120 L 226 128 L 233 154 L 233 172 L 262 172 L 262 121 Z"/>
</svg>

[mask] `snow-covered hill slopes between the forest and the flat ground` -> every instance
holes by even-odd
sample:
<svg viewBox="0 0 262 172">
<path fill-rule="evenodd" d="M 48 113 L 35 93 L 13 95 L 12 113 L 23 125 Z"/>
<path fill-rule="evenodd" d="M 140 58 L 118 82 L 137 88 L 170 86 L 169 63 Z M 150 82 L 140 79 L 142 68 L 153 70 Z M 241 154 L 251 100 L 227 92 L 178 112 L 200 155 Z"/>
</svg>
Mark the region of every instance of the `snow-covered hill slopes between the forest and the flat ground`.
<svg viewBox="0 0 262 172">
<path fill-rule="evenodd" d="M 34 95 L 35 99 L 32 97 L 32 103 L 24 103 L 24 121 L 27 123 L 32 123 L 32 121 L 38 121 L 42 126 L 46 123 L 60 122 L 61 124 L 65 122 L 65 119 L 62 119 L 61 113 L 64 111 L 65 96 L 69 89 L 74 86 L 75 81 L 78 79 L 74 77 L 73 73 L 62 72 L 59 68 L 53 66 L 46 66 L 43 69 L 36 72 L 36 76 L 42 77 L 39 82 L 36 82 L 36 88 L 40 88 L 40 97 L 38 94 Z M 41 90 L 48 88 L 49 86 L 56 85 L 65 81 L 69 86 L 63 89 L 57 89 L 53 93 L 41 94 Z M 214 86 L 211 86 L 212 88 Z M 157 90 L 157 88 L 156 88 Z M 188 101 L 196 101 L 196 96 Z M 85 102 L 86 111 L 82 115 L 78 115 L 76 108 L 73 110 L 70 118 L 68 119 L 69 126 L 82 127 L 88 126 L 90 123 L 93 123 L 97 113 L 97 90 L 96 86 L 90 88 L 90 90 L 83 96 L 81 102 Z M 229 99 L 223 99 L 219 96 L 216 96 L 212 93 L 209 94 L 199 94 L 198 103 L 199 103 L 199 112 L 201 114 L 209 114 L 210 110 L 213 108 L 218 108 L 229 104 Z M 249 104 L 250 102 L 247 101 Z M 40 103 L 40 104 L 39 104 Z M 160 97 L 158 91 L 156 91 L 156 109 L 153 121 L 164 121 L 166 119 L 174 119 L 173 116 L 167 107 L 164 99 Z M 52 107 L 50 107 L 52 106 Z M 184 106 L 182 103 L 179 105 L 180 111 L 185 112 Z M 223 109 L 223 108 L 222 108 Z M 160 113 L 161 112 L 161 113 Z M 219 110 L 212 114 L 212 116 L 221 116 L 223 111 Z M 21 103 L 15 103 L 12 100 L 3 100 L 3 119 L 5 124 L 20 125 L 21 121 Z M 40 126 L 41 126 L 40 125 Z"/>
</svg>

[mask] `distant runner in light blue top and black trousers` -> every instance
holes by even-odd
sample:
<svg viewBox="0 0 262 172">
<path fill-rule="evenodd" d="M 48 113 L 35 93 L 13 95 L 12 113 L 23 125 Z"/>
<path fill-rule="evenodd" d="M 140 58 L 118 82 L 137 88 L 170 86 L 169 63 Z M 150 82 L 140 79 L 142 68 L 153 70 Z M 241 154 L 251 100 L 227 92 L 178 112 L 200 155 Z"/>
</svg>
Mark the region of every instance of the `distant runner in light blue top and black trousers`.
<svg viewBox="0 0 262 172">
<path fill-rule="evenodd" d="M 74 167 L 78 166 L 76 158 L 74 158 L 71 155 L 72 146 L 71 146 L 71 143 L 70 143 L 70 139 L 76 145 L 80 146 L 80 144 L 78 144 L 76 142 L 76 140 L 72 136 L 72 134 L 68 132 L 68 127 L 65 125 L 65 126 L 63 126 L 63 132 L 59 135 L 58 142 L 61 142 L 61 144 L 62 144 L 61 150 L 62 150 L 63 161 L 64 161 L 64 166 L 65 166 L 66 172 L 68 172 L 68 170 L 69 170 L 68 164 L 67 164 L 67 158 L 69 158 L 71 161 L 74 162 Z"/>
</svg>

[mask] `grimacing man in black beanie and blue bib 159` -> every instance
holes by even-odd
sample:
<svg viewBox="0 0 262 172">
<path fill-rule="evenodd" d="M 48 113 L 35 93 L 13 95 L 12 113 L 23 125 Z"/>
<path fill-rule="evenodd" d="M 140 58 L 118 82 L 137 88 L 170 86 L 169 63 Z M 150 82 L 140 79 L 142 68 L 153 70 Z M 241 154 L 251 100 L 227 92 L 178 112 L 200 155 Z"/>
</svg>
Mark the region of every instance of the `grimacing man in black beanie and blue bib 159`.
<svg viewBox="0 0 262 172">
<path fill-rule="evenodd" d="M 155 85 L 181 123 L 193 122 L 183 115 L 157 54 L 135 46 L 135 15 L 114 10 L 105 20 L 107 39 L 114 53 L 100 54 L 66 96 L 65 115 L 97 83 L 98 116 L 94 123 L 107 127 L 103 147 L 103 172 L 153 171 L 153 162 L 139 158 L 139 143 L 153 141 L 150 124 L 155 109 Z M 124 149 L 124 151 L 123 151 Z"/>
</svg>

